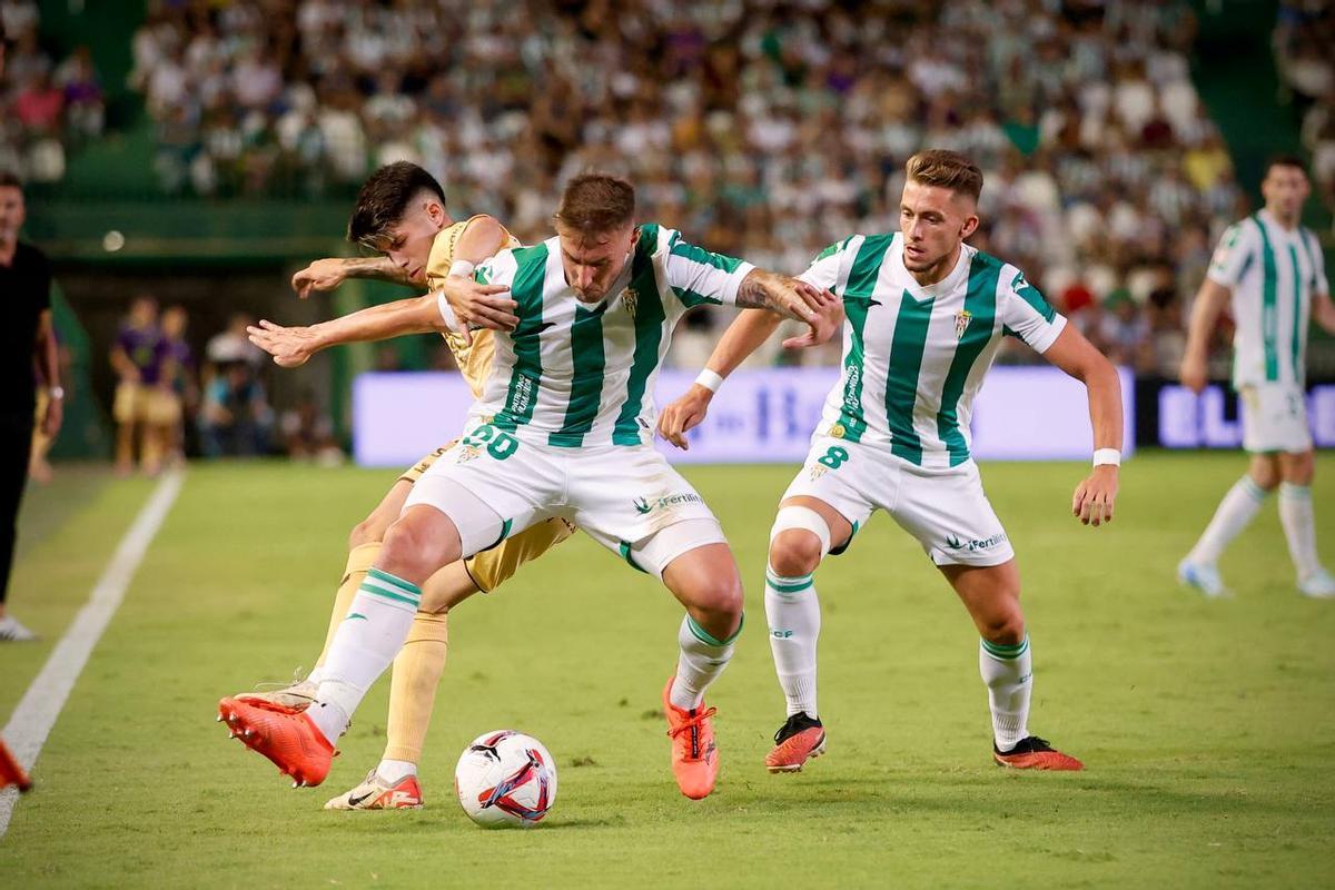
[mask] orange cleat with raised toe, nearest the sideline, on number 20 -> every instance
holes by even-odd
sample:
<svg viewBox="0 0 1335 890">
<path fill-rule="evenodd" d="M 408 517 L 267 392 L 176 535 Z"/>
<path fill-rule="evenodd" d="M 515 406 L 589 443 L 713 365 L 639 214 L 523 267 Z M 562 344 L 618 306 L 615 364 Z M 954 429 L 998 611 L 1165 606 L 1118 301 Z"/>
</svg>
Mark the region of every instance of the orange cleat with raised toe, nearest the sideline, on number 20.
<svg viewBox="0 0 1335 890">
<path fill-rule="evenodd" d="M 224 698 L 218 719 L 231 730 L 228 738 L 259 751 L 292 779 L 292 787 L 314 787 L 328 775 L 334 746 L 304 711 L 262 699 Z"/>
</svg>

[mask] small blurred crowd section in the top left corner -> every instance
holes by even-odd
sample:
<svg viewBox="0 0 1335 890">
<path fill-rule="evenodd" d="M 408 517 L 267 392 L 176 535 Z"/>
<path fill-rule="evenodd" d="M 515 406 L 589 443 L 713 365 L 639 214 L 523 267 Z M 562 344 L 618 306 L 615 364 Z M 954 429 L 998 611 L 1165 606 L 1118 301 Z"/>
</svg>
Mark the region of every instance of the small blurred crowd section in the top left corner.
<svg viewBox="0 0 1335 890">
<path fill-rule="evenodd" d="M 105 103 L 88 48 L 56 64 L 37 41 L 37 23 L 35 0 L 0 0 L 0 169 L 55 183 L 65 175 L 67 149 L 101 135 Z"/>
</svg>

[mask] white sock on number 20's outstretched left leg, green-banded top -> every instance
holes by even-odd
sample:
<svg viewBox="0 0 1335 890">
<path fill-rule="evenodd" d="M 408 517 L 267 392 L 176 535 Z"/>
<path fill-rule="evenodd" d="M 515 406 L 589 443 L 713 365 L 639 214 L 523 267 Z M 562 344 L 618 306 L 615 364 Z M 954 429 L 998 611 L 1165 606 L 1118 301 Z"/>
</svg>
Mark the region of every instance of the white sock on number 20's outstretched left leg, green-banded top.
<svg viewBox="0 0 1335 890">
<path fill-rule="evenodd" d="M 307 714 L 332 745 L 362 703 L 366 690 L 388 669 L 409 638 L 422 590 L 371 568 L 334 634 L 315 701 Z"/>
</svg>

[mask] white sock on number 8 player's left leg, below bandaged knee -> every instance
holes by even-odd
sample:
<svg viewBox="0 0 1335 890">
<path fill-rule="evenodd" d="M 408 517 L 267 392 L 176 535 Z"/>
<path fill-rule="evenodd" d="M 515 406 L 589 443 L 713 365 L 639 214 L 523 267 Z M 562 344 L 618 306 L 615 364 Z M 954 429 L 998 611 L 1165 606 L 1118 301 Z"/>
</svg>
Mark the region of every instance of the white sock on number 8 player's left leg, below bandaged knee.
<svg viewBox="0 0 1335 890">
<path fill-rule="evenodd" d="M 765 570 L 765 618 L 769 650 L 778 685 L 788 699 L 788 715 L 816 711 L 816 643 L 821 636 L 821 603 L 812 575 L 786 578 Z"/>
</svg>

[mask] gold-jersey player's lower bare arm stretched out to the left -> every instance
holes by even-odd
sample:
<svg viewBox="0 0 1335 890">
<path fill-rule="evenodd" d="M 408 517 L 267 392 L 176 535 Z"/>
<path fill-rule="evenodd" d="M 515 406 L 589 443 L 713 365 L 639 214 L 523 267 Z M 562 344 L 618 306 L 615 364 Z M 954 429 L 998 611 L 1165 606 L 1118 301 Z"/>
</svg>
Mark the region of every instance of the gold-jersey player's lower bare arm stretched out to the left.
<svg viewBox="0 0 1335 890">
<path fill-rule="evenodd" d="M 405 334 L 445 331 L 434 295 L 372 306 L 310 327 L 283 327 L 268 320 L 246 328 L 250 342 L 274 356 L 274 363 L 295 368 L 331 346 L 370 343 Z"/>
</svg>

